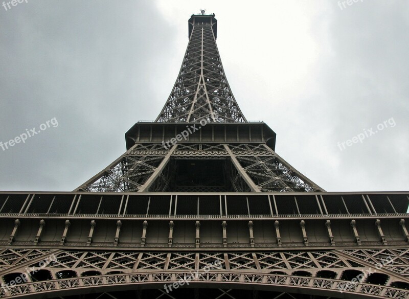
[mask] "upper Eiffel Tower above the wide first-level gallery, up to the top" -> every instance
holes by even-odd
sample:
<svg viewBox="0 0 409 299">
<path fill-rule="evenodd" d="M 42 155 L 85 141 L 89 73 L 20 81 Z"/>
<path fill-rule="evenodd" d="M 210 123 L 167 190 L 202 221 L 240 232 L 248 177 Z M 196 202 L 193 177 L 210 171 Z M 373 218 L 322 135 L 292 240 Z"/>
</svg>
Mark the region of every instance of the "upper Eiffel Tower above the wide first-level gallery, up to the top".
<svg viewBox="0 0 409 299">
<path fill-rule="evenodd" d="M 274 152 L 276 134 L 268 126 L 243 116 L 224 74 L 214 15 L 193 15 L 189 36 L 172 93 L 155 123 L 135 124 L 126 133 L 128 151 L 75 191 L 323 191 Z M 164 144 L 183 131 L 189 132 L 184 143 Z M 181 162 L 187 159 L 222 160 L 214 167 L 223 175 L 214 177 L 213 185 L 210 173 L 206 181 L 180 185 L 176 173 L 178 178 L 197 174 Z"/>
</svg>

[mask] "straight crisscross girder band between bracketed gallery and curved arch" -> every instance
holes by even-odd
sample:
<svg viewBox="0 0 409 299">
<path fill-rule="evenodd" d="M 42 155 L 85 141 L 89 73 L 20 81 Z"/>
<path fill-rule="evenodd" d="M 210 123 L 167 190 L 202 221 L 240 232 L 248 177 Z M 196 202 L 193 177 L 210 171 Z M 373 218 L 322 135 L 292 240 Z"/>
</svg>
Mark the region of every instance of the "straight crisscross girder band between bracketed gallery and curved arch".
<svg viewBox="0 0 409 299">
<path fill-rule="evenodd" d="M 339 253 L 338 253 L 339 252 Z M 409 276 L 409 249 L 343 249 L 276 252 L 135 252 L 3 249 L 0 252 L 2 270 L 38 267 L 51 255 L 53 262 L 46 268 L 84 270 L 137 271 L 152 270 L 317 270 L 383 268 Z M 382 261 L 390 260 L 389 264 Z M 0 272 L 1 273 L 1 272 Z"/>
</svg>

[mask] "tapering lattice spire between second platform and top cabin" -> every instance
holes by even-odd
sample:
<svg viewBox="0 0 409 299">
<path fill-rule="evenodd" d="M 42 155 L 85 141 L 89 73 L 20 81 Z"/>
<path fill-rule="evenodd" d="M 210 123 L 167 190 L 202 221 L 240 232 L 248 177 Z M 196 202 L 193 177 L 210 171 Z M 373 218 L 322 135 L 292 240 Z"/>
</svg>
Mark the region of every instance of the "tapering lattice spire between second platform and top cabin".
<svg viewBox="0 0 409 299">
<path fill-rule="evenodd" d="M 179 76 L 156 122 L 247 122 L 224 75 L 211 24 L 196 24 Z"/>
</svg>

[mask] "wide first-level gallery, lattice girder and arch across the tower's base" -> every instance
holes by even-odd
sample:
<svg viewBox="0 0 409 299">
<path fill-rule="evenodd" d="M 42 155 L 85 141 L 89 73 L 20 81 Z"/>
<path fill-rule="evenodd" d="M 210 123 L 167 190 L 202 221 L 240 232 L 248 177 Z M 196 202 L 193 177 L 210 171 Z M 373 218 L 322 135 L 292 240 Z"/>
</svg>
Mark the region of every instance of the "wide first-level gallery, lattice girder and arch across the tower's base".
<svg viewBox="0 0 409 299">
<path fill-rule="evenodd" d="M 0 193 L 0 297 L 409 295 L 409 193 Z"/>
</svg>

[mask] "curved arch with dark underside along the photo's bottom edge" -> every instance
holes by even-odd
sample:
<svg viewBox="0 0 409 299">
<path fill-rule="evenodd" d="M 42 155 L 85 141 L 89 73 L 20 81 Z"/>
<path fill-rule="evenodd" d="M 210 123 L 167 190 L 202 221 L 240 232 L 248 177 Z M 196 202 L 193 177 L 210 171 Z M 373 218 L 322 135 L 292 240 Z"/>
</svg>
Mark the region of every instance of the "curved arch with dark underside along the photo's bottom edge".
<svg viewBox="0 0 409 299">
<path fill-rule="evenodd" d="M 17 273 L 13 273 L 17 274 Z M 400 288 L 394 287 L 399 285 Z M 297 275 L 243 271 L 117 273 L 3 285 L 0 297 L 24 298 L 407 298 L 408 284 L 376 286 Z"/>
</svg>

